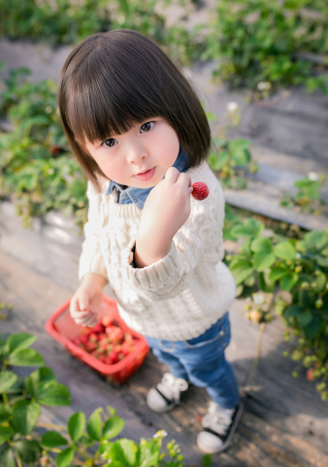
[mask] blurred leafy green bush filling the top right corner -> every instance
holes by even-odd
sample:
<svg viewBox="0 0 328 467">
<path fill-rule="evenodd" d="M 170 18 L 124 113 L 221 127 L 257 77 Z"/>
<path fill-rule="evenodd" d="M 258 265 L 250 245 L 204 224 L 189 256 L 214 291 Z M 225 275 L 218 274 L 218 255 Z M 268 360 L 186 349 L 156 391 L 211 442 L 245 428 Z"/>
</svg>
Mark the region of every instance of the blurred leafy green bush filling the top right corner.
<svg viewBox="0 0 328 467">
<path fill-rule="evenodd" d="M 259 98 L 299 84 L 327 93 L 326 58 L 320 64 L 308 58 L 326 54 L 327 12 L 321 0 L 216 2 L 203 59 L 217 63 L 215 77 Z"/>
</svg>

